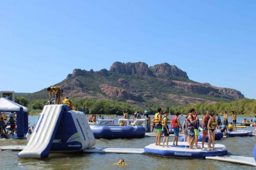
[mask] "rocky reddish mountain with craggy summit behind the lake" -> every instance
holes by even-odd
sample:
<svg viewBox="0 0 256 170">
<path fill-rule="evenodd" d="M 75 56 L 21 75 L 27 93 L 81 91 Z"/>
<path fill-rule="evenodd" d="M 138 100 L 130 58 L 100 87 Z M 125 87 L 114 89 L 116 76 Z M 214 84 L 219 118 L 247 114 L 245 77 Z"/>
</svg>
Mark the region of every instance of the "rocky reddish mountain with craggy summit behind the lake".
<svg viewBox="0 0 256 170">
<path fill-rule="evenodd" d="M 109 70 L 75 69 L 58 83 L 70 98 L 112 99 L 136 106 L 178 106 L 244 97 L 240 91 L 194 82 L 187 73 L 168 63 L 115 62 Z M 46 88 L 27 94 L 29 99 L 47 99 Z"/>
</svg>

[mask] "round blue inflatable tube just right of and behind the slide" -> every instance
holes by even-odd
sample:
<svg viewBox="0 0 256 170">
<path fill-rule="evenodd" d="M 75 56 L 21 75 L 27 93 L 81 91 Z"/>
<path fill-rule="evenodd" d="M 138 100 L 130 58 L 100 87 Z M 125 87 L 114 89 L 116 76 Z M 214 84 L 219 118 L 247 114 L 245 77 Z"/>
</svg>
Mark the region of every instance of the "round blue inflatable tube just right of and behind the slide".
<svg viewBox="0 0 256 170">
<path fill-rule="evenodd" d="M 145 128 L 143 126 L 90 126 L 95 138 L 143 138 Z"/>
</svg>

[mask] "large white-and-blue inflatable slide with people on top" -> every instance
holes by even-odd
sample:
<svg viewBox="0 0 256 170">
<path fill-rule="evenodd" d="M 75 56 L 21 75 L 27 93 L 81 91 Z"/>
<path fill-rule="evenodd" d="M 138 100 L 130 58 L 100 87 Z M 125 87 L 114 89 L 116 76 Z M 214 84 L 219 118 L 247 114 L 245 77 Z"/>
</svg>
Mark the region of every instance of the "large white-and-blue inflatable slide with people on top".
<svg viewBox="0 0 256 170">
<path fill-rule="evenodd" d="M 18 157 L 46 158 L 52 151 L 79 152 L 94 145 L 95 138 L 83 112 L 63 104 L 46 105 Z"/>
</svg>

